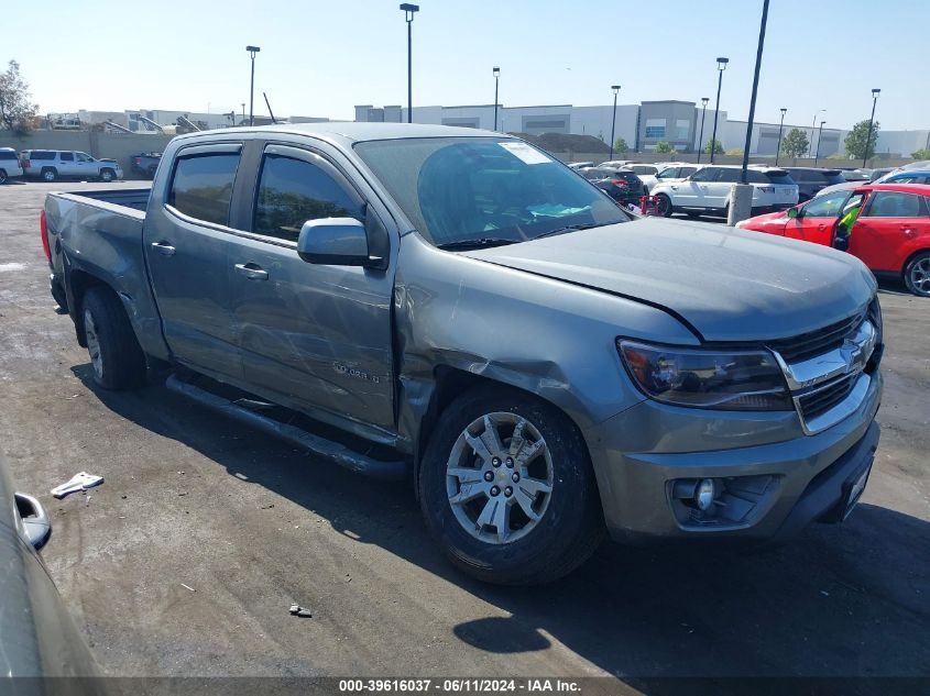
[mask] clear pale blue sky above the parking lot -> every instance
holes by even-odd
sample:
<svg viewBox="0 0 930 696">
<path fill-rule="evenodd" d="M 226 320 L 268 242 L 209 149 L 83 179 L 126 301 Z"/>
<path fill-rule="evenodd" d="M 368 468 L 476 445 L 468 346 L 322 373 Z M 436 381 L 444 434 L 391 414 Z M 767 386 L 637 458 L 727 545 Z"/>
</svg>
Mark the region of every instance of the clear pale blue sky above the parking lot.
<svg viewBox="0 0 930 696">
<path fill-rule="evenodd" d="M 258 57 L 258 113 L 353 118 L 406 103 L 406 30 L 395 0 L 18 2 L 0 62 L 15 58 L 42 112 L 241 110 L 247 44 Z M 762 0 L 420 0 L 414 106 L 505 106 L 714 98 L 714 59 L 731 59 L 721 109 L 748 113 Z M 757 121 L 828 128 L 868 118 L 882 88 L 884 129 L 930 128 L 918 49 L 927 0 L 772 0 Z M 857 47 L 861 46 L 861 47 Z M 908 48 L 913 54 L 908 53 Z M 909 57 L 910 56 L 910 57 Z M 711 101 L 713 103 L 713 101 Z M 259 104 L 262 104 L 261 108 Z M 247 107 L 248 108 L 248 107 Z"/>
</svg>

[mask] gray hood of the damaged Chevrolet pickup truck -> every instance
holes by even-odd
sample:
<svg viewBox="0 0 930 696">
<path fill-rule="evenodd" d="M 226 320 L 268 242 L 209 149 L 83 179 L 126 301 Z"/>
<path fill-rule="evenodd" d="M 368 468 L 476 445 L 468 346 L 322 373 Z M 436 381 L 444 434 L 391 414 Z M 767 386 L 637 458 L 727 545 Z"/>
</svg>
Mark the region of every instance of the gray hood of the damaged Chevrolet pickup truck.
<svg viewBox="0 0 930 696">
<path fill-rule="evenodd" d="M 833 248 L 665 218 L 466 255 L 657 305 L 705 341 L 813 331 L 863 308 L 876 287 L 860 261 Z"/>
</svg>

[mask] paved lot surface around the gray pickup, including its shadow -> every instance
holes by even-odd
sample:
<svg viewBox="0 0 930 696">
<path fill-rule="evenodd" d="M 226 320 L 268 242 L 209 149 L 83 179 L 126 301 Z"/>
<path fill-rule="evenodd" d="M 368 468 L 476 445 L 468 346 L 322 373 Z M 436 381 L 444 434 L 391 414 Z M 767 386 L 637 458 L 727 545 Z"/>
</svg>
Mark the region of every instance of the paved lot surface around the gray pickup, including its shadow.
<svg viewBox="0 0 930 696">
<path fill-rule="evenodd" d="M 555 585 L 502 589 L 445 562 L 408 484 L 161 385 L 96 390 L 37 221 L 48 190 L 99 187 L 0 187 L 0 452 L 50 511 L 43 555 L 106 673 L 613 675 L 620 693 L 679 675 L 930 676 L 930 300 L 883 290 L 882 444 L 846 523 L 751 553 L 606 545 Z M 51 497 L 79 471 L 106 483 Z"/>
</svg>

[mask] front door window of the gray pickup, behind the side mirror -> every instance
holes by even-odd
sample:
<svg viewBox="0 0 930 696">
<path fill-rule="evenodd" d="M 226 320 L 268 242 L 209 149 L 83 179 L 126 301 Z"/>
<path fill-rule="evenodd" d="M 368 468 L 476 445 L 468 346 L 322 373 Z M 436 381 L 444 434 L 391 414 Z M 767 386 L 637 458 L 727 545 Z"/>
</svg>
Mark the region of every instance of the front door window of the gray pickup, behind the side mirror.
<svg viewBox="0 0 930 696">
<path fill-rule="evenodd" d="M 281 155 L 265 155 L 255 200 L 253 232 L 296 242 L 307 220 L 355 218 L 361 205 L 322 167 Z"/>
</svg>

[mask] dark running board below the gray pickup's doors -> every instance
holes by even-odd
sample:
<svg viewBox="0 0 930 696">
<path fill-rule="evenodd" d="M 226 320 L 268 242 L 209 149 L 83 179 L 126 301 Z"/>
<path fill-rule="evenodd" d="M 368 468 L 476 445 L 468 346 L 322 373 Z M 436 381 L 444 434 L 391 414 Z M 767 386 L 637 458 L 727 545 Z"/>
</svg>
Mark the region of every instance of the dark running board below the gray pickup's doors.
<svg viewBox="0 0 930 696">
<path fill-rule="evenodd" d="M 229 416 L 241 423 L 251 426 L 275 438 L 286 440 L 358 474 L 364 474 L 365 476 L 382 480 L 396 480 L 404 478 L 409 473 L 409 467 L 403 461 L 385 462 L 372 459 L 354 450 L 350 450 L 342 443 L 315 435 L 296 426 L 282 423 L 273 418 L 249 410 L 244 406 L 239 406 L 229 399 L 210 394 L 206 389 L 195 387 L 179 379 L 177 375 L 171 375 L 165 380 L 165 387 L 171 391 L 203 404 L 215 411 L 219 411 L 223 416 Z M 251 404 L 251 406 L 254 407 L 254 404 Z"/>
</svg>

